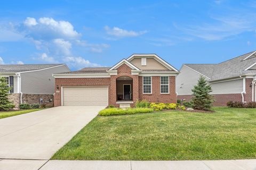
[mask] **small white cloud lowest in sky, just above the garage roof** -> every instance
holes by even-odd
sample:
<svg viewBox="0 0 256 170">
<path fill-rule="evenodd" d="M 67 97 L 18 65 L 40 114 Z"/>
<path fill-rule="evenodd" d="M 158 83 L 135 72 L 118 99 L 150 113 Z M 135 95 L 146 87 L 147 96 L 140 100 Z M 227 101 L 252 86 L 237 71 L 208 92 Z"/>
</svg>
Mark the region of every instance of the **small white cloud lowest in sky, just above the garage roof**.
<svg viewBox="0 0 256 170">
<path fill-rule="evenodd" d="M 67 62 L 68 65 L 82 69 L 84 67 L 100 67 L 101 65 L 91 63 L 89 60 L 85 60 L 83 57 L 65 57 L 63 61 Z"/>
</svg>

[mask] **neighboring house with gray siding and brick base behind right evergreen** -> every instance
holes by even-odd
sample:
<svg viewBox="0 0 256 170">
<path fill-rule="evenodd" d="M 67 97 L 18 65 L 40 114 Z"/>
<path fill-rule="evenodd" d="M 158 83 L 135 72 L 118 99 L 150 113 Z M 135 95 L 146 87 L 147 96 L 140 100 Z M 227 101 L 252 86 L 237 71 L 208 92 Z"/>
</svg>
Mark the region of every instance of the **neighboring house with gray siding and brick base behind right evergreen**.
<svg viewBox="0 0 256 170">
<path fill-rule="evenodd" d="M 211 84 L 215 106 L 230 100 L 256 101 L 256 51 L 219 64 L 183 64 L 176 81 L 178 99 L 191 99 L 200 76 Z"/>
</svg>

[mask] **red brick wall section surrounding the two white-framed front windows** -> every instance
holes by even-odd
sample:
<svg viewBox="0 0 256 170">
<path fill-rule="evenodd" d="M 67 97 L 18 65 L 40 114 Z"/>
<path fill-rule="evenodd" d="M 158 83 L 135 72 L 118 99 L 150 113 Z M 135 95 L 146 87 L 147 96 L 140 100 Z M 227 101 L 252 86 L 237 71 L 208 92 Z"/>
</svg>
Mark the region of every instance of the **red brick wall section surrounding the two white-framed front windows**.
<svg viewBox="0 0 256 170">
<path fill-rule="evenodd" d="M 175 77 L 169 77 L 169 94 L 161 94 L 160 91 L 160 77 L 152 77 L 152 94 L 143 94 L 143 81 L 142 77 L 139 77 L 139 100 L 146 99 L 150 102 L 159 103 L 176 103 L 177 95 L 175 92 Z"/>
</svg>

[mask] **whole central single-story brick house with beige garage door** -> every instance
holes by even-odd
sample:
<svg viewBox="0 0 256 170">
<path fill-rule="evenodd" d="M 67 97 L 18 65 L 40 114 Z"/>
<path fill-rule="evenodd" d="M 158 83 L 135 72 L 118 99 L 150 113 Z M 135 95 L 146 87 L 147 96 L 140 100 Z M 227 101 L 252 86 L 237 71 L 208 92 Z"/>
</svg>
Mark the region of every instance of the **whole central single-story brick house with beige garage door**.
<svg viewBox="0 0 256 170">
<path fill-rule="evenodd" d="M 137 100 L 176 103 L 178 70 L 156 54 L 133 54 L 112 67 L 53 74 L 54 106 L 134 106 Z"/>
</svg>

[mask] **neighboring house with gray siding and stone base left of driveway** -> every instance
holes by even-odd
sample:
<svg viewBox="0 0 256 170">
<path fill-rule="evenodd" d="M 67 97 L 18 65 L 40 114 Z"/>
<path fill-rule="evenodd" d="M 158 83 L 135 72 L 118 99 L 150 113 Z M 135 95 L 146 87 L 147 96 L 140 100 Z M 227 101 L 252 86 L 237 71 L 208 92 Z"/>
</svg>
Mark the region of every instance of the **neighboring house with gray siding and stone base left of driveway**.
<svg viewBox="0 0 256 170">
<path fill-rule="evenodd" d="M 20 103 L 51 105 L 54 94 L 52 74 L 70 71 L 66 64 L 13 64 L 0 65 L 0 76 L 6 78 L 10 100 Z"/>
</svg>

